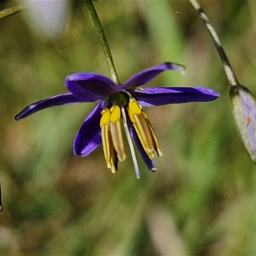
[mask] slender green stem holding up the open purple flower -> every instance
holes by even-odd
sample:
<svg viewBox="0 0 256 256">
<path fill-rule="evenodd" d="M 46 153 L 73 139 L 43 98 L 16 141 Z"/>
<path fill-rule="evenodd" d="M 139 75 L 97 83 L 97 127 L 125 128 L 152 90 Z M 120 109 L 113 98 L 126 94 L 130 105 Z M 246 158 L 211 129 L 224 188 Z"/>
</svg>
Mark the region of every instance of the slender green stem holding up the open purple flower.
<svg viewBox="0 0 256 256">
<path fill-rule="evenodd" d="M 99 35 L 100 42 L 102 44 L 103 51 L 104 51 L 104 54 L 105 54 L 105 58 L 106 58 L 106 61 L 107 61 L 110 78 L 114 83 L 120 84 L 120 81 L 119 81 L 118 76 L 116 74 L 116 68 L 115 68 L 114 61 L 113 61 L 113 58 L 112 58 L 112 55 L 111 55 L 111 51 L 109 49 L 108 40 L 107 40 L 106 35 L 104 33 L 104 30 L 101 26 L 99 16 L 97 15 L 97 12 L 96 12 L 96 10 L 93 6 L 92 1 L 85 1 L 84 3 L 86 4 L 86 7 L 88 8 L 88 11 L 90 12 L 90 15 L 92 16 L 92 19 L 93 19 L 93 22 L 95 24 L 97 33 Z"/>
</svg>

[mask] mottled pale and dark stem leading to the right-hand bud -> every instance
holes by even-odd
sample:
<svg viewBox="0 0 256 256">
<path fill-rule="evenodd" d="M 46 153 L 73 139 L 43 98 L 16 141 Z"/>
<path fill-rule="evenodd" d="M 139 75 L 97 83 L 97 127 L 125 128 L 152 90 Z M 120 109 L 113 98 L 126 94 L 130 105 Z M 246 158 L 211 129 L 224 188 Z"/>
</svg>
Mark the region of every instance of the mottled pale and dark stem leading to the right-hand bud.
<svg viewBox="0 0 256 256">
<path fill-rule="evenodd" d="M 199 13 L 200 17 L 202 18 L 205 27 L 207 28 L 212 41 L 214 42 L 214 45 L 216 46 L 216 49 L 218 53 L 220 54 L 221 61 L 223 63 L 223 67 L 225 69 L 225 73 L 228 79 L 228 82 L 231 86 L 237 86 L 239 85 L 236 75 L 234 74 L 234 71 L 228 61 L 227 55 L 225 54 L 225 51 L 221 45 L 220 39 L 215 31 L 215 29 L 212 27 L 210 20 L 208 19 L 207 15 L 205 14 L 204 10 L 200 6 L 200 4 L 196 0 L 189 0 L 189 2 L 193 5 L 195 10 Z"/>
</svg>

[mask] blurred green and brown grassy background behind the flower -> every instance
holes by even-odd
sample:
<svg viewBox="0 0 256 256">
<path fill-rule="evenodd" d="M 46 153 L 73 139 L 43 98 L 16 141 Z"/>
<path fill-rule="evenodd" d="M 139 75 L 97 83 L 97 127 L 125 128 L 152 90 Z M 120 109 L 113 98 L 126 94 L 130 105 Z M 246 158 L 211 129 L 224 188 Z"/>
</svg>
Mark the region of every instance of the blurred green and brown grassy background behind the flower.
<svg viewBox="0 0 256 256">
<path fill-rule="evenodd" d="M 256 2 L 200 3 L 237 78 L 256 95 Z M 189 1 L 94 4 L 120 81 L 174 61 L 186 66 L 184 76 L 166 72 L 148 86 L 205 86 L 221 97 L 145 109 L 163 152 L 157 172 L 139 160 L 138 180 L 127 157 L 113 175 L 101 147 L 73 154 L 95 104 L 14 120 L 28 104 L 67 92 L 72 72 L 108 76 L 83 2 L 70 3 L 67 31 L 54 40 L 36 35 L 26 12 L 0 20 L 0 255 L 256 255 L 256 168 L 237 136 L 228 81 L 202 20 Z"/>
</svg>

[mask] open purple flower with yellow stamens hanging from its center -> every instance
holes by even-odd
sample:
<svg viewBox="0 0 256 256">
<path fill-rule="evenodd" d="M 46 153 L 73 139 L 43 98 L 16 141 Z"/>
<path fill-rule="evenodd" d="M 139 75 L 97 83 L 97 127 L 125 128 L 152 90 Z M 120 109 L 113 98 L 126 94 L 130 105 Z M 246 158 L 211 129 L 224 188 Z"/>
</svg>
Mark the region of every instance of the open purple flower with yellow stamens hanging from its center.
<svg viewBox="0 0 256 256">
<path fill-rule="evenodd" d="M 76 135 L 74 154 L 88 156 L 102 143 L 107 167 L 111 169 L 111 172 L 116 173 L 118 160 L 122 162 L 126 158 L 121 127 L 121 119 L 123 119 L 136 176 L 139 178 L 140 173 L 132 141 L 138 148 L 144 163 L 152 172 L 156 171 L 153 161 L 154 150 L 158 156 L 162 155 L 156 134 L 142 107 L 207 102 L 220 96 L 211 89 L 202 87 L 139 87 L 165 70 L 183 71 L 184 67 L 173 63 L 163 63 L 132 76 L 121 86 L 99 74 L 75 73 L 67 76 L 65 80 L 70 93 L 35 102 L 24 108 L 15 116 L 15 119 L 20 120 L 52 106 L 99 100 Z"/>
</svg>

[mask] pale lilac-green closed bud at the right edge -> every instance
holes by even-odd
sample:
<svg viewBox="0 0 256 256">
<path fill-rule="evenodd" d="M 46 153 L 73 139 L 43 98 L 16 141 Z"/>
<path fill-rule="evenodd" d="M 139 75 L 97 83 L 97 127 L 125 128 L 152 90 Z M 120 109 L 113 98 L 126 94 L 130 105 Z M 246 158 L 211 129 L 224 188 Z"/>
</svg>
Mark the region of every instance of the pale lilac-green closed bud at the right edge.
<svg viewBox="0 0 256 256">
<path fill-rule="evenodd" d="M 232 114 L 243 145 L 256 164 L 256 100 L 244 86 L 230 89 Z"/>
</svg>

